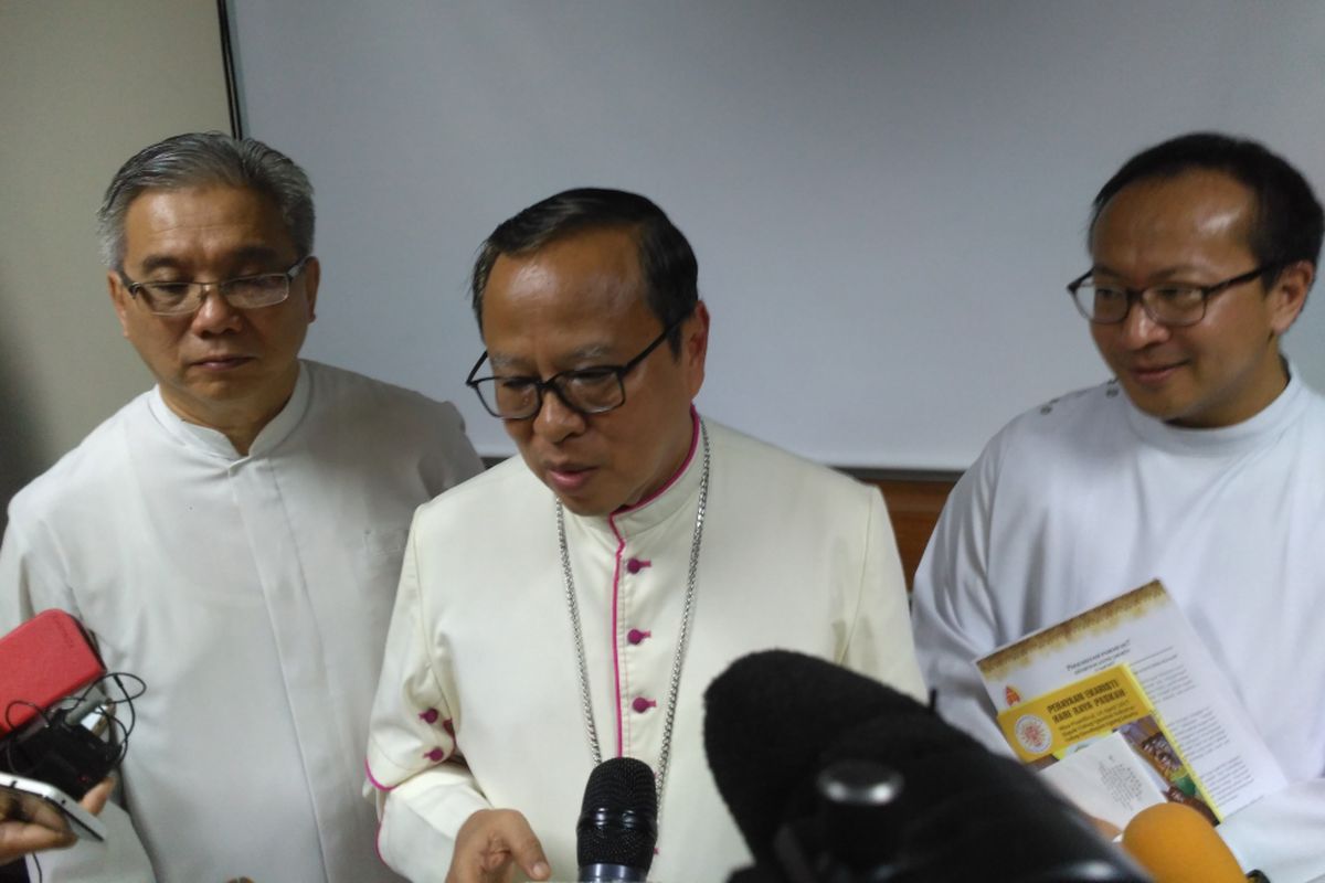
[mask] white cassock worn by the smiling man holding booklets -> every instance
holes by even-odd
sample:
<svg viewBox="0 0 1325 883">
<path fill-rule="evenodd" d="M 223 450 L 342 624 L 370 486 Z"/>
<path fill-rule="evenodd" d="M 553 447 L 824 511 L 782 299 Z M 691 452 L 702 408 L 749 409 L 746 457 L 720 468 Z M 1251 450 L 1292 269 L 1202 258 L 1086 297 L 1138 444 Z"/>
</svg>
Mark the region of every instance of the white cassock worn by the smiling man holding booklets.
<svg viewBox="0 0 1325 883">
<path fill-rule="evenodd" d="M 1223 429 L 1170 426 L 1108 384 L 995 436 L 916 575 L 941 714 L 1007 752 L 971 661 L 1153 579 L 1293 782 L 1224 841 L 1275 883 L 1325 874 L 1325 400 L 1296 377 Z"/>
</svg>

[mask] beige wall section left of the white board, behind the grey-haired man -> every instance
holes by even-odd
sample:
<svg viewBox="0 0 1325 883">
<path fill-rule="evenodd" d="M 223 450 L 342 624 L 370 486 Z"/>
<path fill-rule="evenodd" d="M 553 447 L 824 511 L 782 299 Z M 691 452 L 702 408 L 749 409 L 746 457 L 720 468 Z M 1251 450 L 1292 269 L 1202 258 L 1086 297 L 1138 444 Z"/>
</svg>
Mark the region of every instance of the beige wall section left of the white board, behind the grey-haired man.
<svg viewBox="0 0 1325 883">
<path fill-rule="evenodd" d="M 151 384 L 94 214 L 136 150 L 199 128 L 229 130 L 215 0 L 0 0 L 0 504 Z"/>
</svg>

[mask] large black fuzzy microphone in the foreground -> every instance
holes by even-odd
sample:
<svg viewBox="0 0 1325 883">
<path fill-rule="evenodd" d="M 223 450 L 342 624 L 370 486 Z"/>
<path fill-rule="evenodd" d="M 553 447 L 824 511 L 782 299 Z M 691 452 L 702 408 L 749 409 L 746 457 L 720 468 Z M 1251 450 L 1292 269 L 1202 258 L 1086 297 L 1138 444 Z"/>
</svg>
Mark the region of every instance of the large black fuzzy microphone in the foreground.
<svg viewBox="0 0 1325 883">
<path fill-rule="evenodd" d="M 1147 880 L 1020 764 L 822 659 L 738 659 L 705 694 L 704 737 L 755 857 L 730 883 Z"/>
</svg>

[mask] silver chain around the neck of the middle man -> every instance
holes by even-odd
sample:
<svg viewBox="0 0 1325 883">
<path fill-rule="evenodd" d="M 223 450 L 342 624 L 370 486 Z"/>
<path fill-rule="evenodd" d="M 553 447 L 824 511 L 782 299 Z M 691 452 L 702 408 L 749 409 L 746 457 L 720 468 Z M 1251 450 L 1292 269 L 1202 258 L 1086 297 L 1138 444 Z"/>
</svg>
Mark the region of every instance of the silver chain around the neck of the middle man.
<svg viewBox="0 0 1325 883">
<path fill-rule="evenodd" d="M 668 760 L 672 756 L 672 724 L 676 721 L 676 703 L 681 691 L 681 665 L 685 661 L 686 642 L 690 637 L 690 620 L 694 617 L 694 589 L 700 573 L 700 543 L 704 539 L 704 508 L 709 500 L 709 430 L 700 421 L 700 437 L 704 441 L 704 469 L 700 473 L 700 504 L 694 514 L 694 535 L 690 539 L 690 571 L 685 580 L 685 602 L 681 606 L 681 630 L 676 638 L 676 655 L 672 659 L 672 683 L 668 687 L 666 718 L 662 723 L 662 748 L 659 752 L 659 767 L 655 773 L 659 806 L 662 806 L 662 785 L 666 781 Z M 598 727 L 594 724 L 594 699 L 588 690 L 588 662 L 584 657 L 584 633 L 580 630 L 579 601 L 575 598 L 575 576 L 571 573 L 571 552 L 566 543 L 566 510 L 556 500 L 556 540 L 562 549 L 562 575 L 566 577 L 566 606 L 571 614 L 571 631 L 575 635 L 575 662 L 580 676 L 580 706 L 584 711 L 584 732 L 588 736 L 588 751 L 594 765 L 603 763 L 603 751 L 598 743 Z M 613 635 L 613 641 L 615 641 Z"/>
</svg>

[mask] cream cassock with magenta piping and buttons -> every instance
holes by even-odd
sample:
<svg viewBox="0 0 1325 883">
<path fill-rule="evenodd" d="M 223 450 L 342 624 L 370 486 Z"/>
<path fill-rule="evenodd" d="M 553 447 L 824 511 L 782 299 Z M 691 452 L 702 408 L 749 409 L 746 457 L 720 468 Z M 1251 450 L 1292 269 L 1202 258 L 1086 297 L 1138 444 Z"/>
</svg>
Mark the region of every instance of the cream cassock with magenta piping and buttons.
<svg viewBox="0 0 1325 883">
<path fill-rule="evenodd" d="M 702 694 L 734 659 L 786 647 L 924 692 L 878 491 L 708 428 L 694 617 L 649 875 L 668 883 L 725 879 L 749 860 L 702 740 Z M 693 446 L 668 486 L 608 518 L 566 512 L 603 755 L 653 769 L 702 459 Z M 529 818 L 553 879 L 572 879 L 591 768 L 555 498 L 514 458 L 415 519 L 368 737 L 379 850 L 416 883 L 441 880 L 460 825 L 510 808 Z"/>
</svg>

